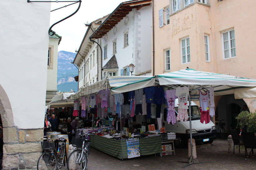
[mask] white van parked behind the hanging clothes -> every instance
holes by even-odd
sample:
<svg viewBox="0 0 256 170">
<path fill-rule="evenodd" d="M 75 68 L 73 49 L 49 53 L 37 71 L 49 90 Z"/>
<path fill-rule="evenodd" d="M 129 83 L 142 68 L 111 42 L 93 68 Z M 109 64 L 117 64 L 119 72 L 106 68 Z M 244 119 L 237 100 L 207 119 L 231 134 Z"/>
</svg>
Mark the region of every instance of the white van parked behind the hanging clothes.
<svg viewBox="0 0 256 170">
<path fill-rule="evenodd" d="M 175 125 L 171 123 L 168 124 L 166 121 L 167 118 L 167 109 L 166 105 L 163 104 L 162 107 L 164 115 L 162 117 L 162 126 L 165 127 L 165 131 L 167 132 L 175 132 L 176 138 L 175 145 L 177 147 L 183 147 L 187 144 L 188 139 L 190 138 L 190 118 L 186 122 L 177 121 Z M 162 109 L 161 109 L 162 110 Z M 175 100 L 175 115 L 177 117 L 178 113 L 178 99 Z M 188 109 L 189 115 L 189 109 Z M 191 122 L 192 122 L 192 138 L 195 140 L 196 143 L 212 143 L 214 139 L 217 137 L 217 131 L 215 125 L 212 121 L 205 124 L 200 122 L 201 114 L 199 112 L 199 107 L 191 101 Z"/>
</svg>

